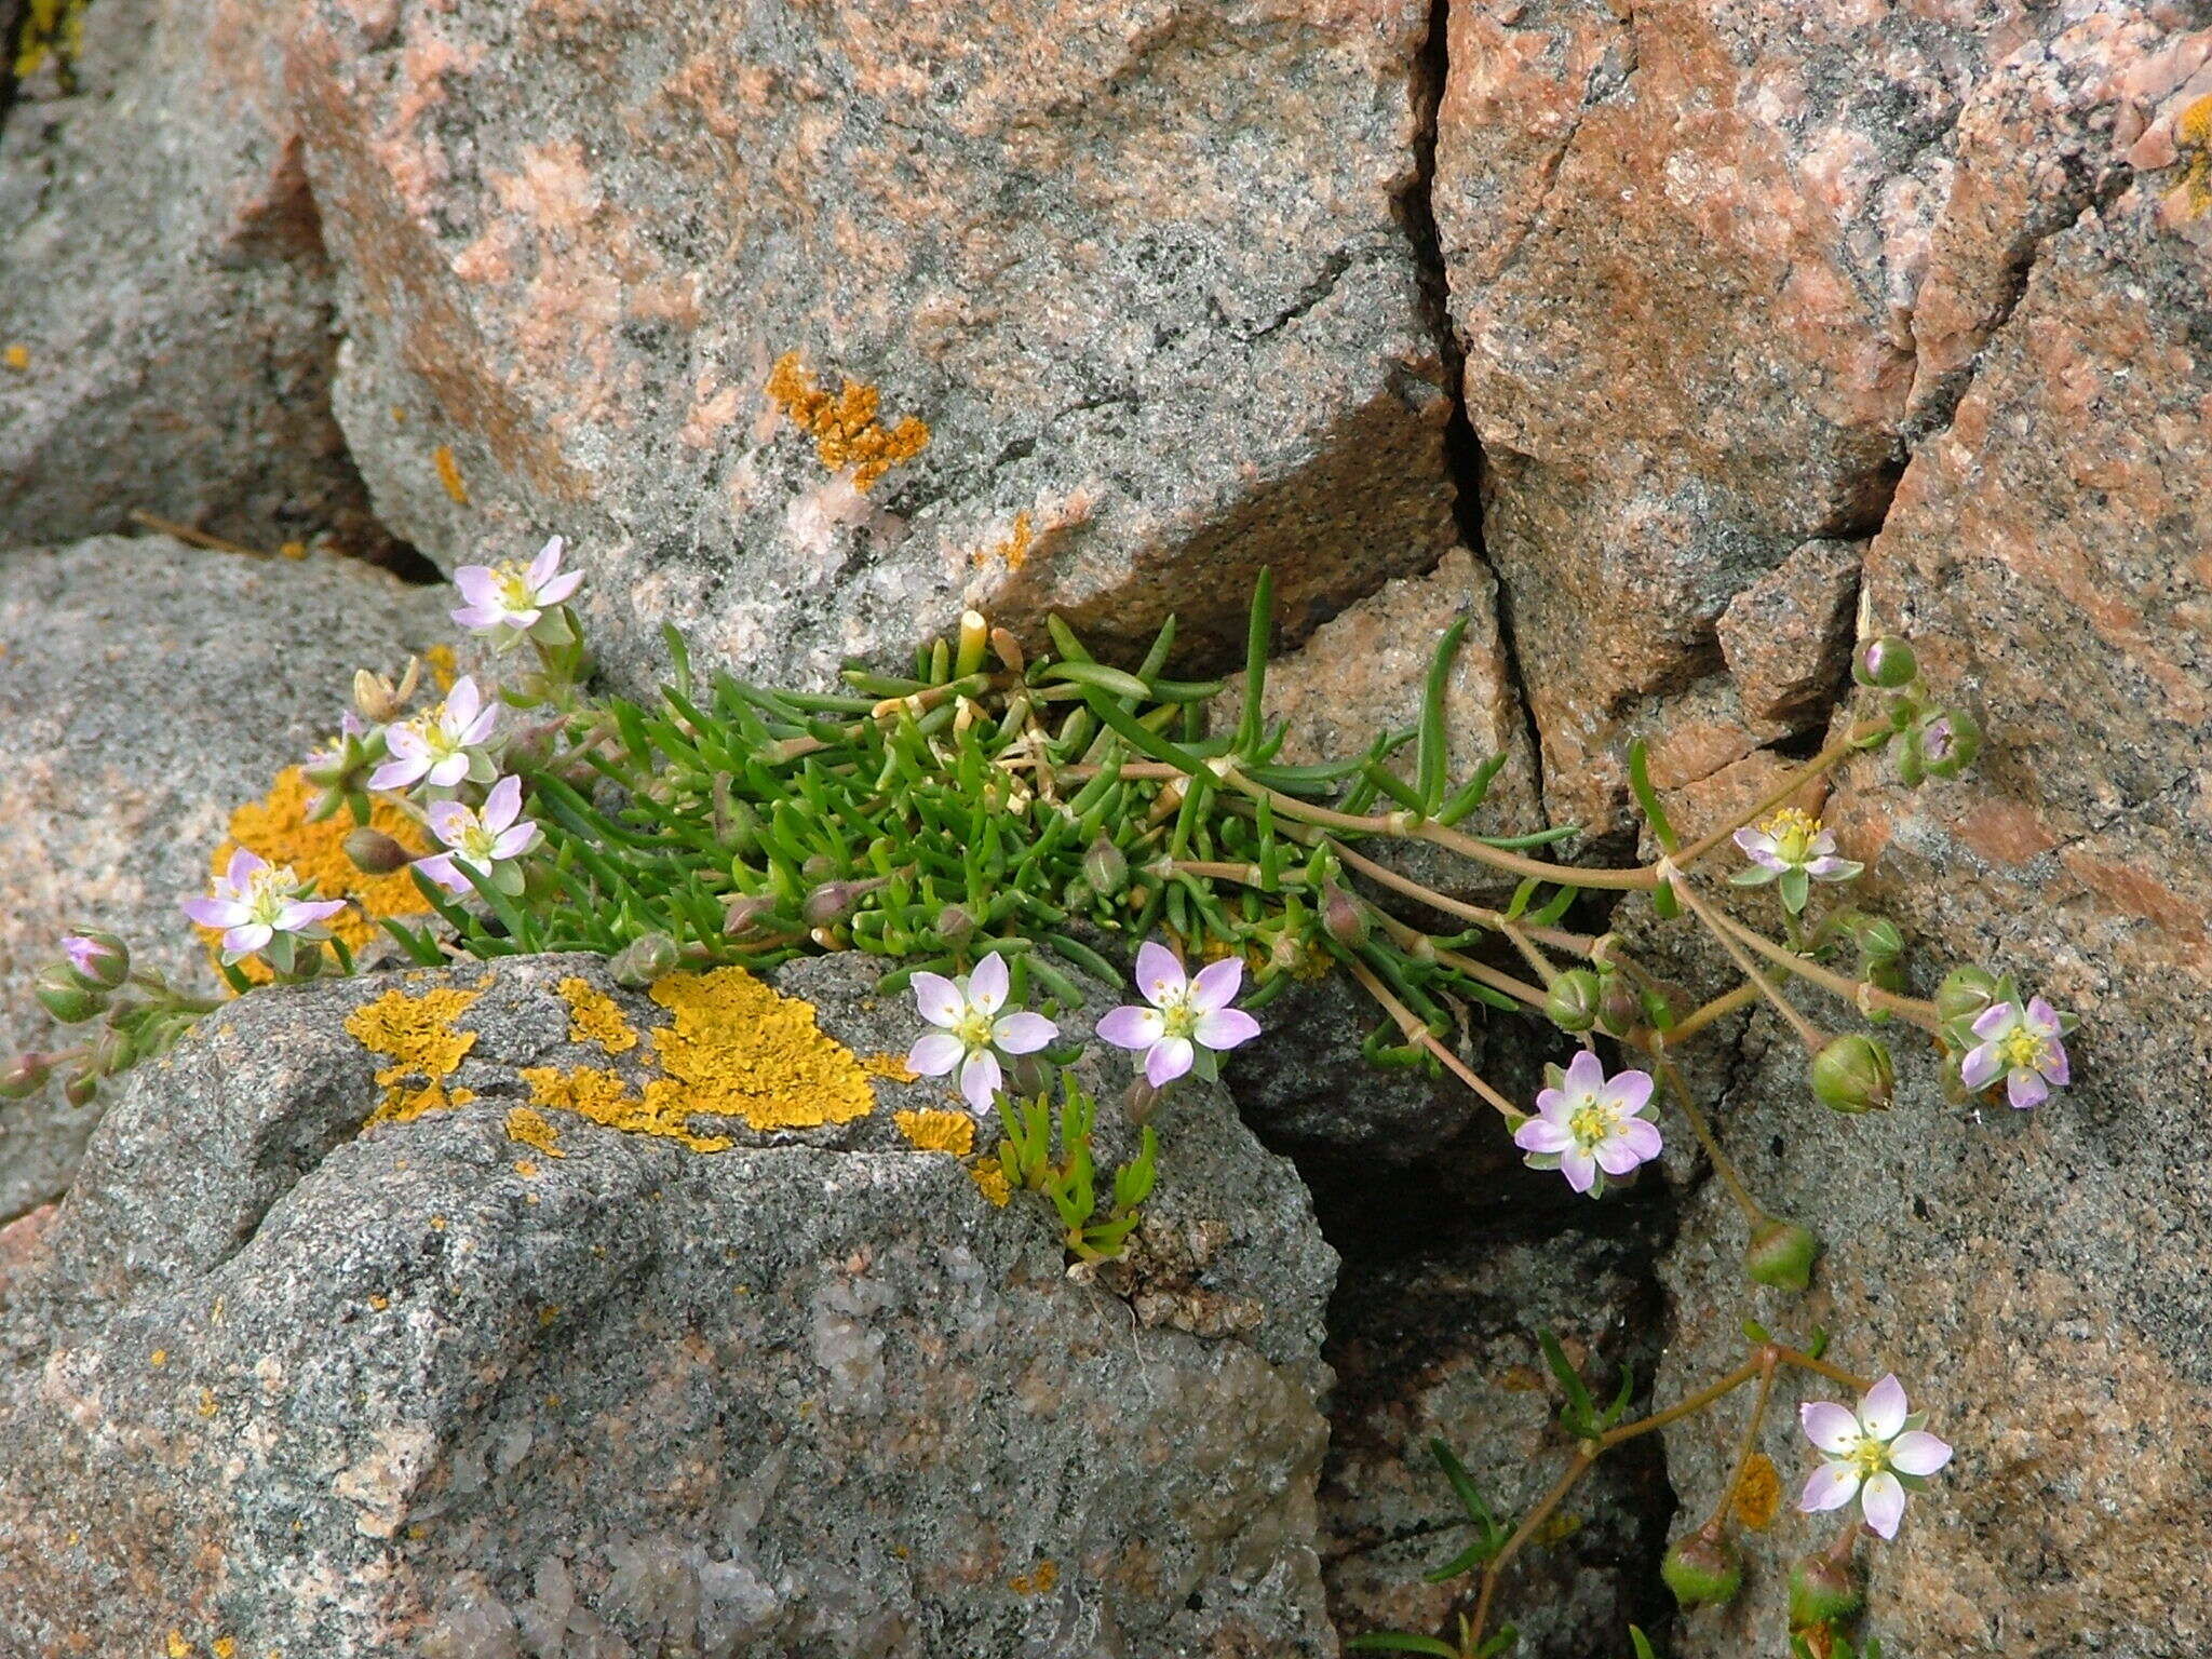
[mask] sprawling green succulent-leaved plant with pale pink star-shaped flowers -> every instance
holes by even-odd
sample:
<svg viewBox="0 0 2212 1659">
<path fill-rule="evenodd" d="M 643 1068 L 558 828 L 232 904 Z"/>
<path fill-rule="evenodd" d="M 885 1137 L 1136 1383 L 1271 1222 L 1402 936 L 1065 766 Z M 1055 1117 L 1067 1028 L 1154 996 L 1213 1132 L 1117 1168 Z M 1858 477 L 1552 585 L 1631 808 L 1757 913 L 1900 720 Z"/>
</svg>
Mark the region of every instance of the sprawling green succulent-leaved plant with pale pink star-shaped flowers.
<svg viewBox="0 0 2212 1659">
<path fill-rule="evenodd" d="M 1274 995 L 1327 971 L 1374 1000 L 1371 1060 L 1449 1071 L 1498 1110 L 1533 1168 L 1557 1170 L 1575 1192 L 1597 1199 L 1630 1181 L 1677 1117 L 1743 1212 L 1747 1276 L 1781 1290 L 1807 1287 L 1818 1241 L 1752 1197 L 1674 1062 L 1686 1042 L 1765 1002 L 1805 1048 L 1809 1093 L 1836 1113 L 1889 1104 L 1893 1057 L 1880 1026 L 1933 1040 L 1960 1097 L 2002 1086 L 2028 1108 L 2068 1082 L 2073 1022 L 2008 978 L 1966 967 L 1933 1000 L 1909 995 L 1896 925 L 1843 900 L 1860 865 L 1792 805 L 1858 752 L 1889 750 L 1907 783 L 1973 761 L 1975 723 L 1929 703 L 1902 639 L 1863 641 L 1858 719 L 1703 836 L 1677 836 L 1632 745 L 1628 776 L 1659 856 L 1584 867 L 1542 856 L 1573 830 L 1462 827 L 1502 759 L 1464 779 L 1449 770 L 1444 684 L 1460 628 L 1438 644 L 1413 730 L 1376 734 L 1329 765 L 1287 765 L 1285 730 L 1263 717 L 1265 577 L 1252 602 L 1241 714 L 1214 730 L 1208 708 L 1223 686 L 1168 675 L 1172 619 L 1137 664 L 1113 666 L 1057 617 L 1048 617 L 1051 650 L 1031 653 L 969 613 L 956 639 L 916 653 L 911 672 L 854 666 L 838 692 L 699 675 L 670 635 L 675 675 L 659 697 L 595 692 L 566 604 L 577 577 L 562 562 L 555 538 L 531 562 L 458 573 L 467 606 L 456 619 L 500 653 L 529 646 L 518 672 L 498 688 L 462 677 L 429 701 L 414 664 L 398 684 L 363 670 L 354 710 L 307 761 L 316 814 L 345 812 L 356 825 L 345 843 L 352 860 L 376 874 L 414 869 L 420 916 L 383 920 L 396 953 L 440 964 L 599 951 L 633 984 L 675 969 L 768 969 L 814 951 L 880 956 L 883 989 L 916 998 L 909 1066 L 953 1079 L 971 1110 L 998 1115 L 1002 1139 L 978 1179 L 1000 1194 L 1044 1194 L 1079 1261 L 1117 1254 L 1141 1228 L 1159 1155 L 1144 1119 L 1159 1091 L 1212 1077 L 1217 1053 L 1256 1035 L 1254 1015 Z M 392 810 L 420 832 L 416 849 L 376 827 L 378 812 L 392 823 Z M 1511 898 L 1475 905 L 1422 885 L 1378 856 L 1391 843 L 1429 843 L 1511 878 Z M 1741 860 L 1717 876 L 1725 852 Z M 1770 889 L 1776 931 L 1739 920 L 1717 880 Z M 1679 1006 L 1621 938 L 1566 925 L 1577 896 L 1593 891 L 1646 894 L 1659 918 L 1712 936 L 1741 984 Z M 1829 891 L 1836 898 L 1823 902 Z M 338 909 L 250 852 L 186 902 L 217 938 L 239 993 L 363 967 L 327 931 Z M 111 933 L 77 929 L 62 949 L 38 998 L 95 1035 L 24 1055 L 0 1075 L 4 1093 L 27 1095 L 60 1075 L 69 1099 L 88 1102 L 212 1006 L 135 971 Z M 1139 1000 L 1093 1035 L 1141 1055 L 1121 1104 L 1141 1137 L 1102 1183 L 1091 1150 L 1099 1104 L 1066 1068 L 1079 1037 L 1029 1004 L 1066 1018 L 1084 1002 L 1068 969 L 1119 982 L 1117 958 L 1128 956 Z M 1865 1029 L 1818 1024 L 1801 1006 L 1805 991 Z M 1579 1044 L 1531 1106 L 1464 1062 L 1460 1037 L 1480 1004 L 1535 1013 Z M 1741 1365 L 1626 1420 L 1628 1380 L 1599 1405 L 1546 1336 L 1559 1422 L 1575 1444 L 1557 1484 L 1506 1524 L 1438 1447 L 1475 1531 L 1431 1577 L 1473 1575 L 1471 1608 L 1455 1615 L 1449 1639 L 1376 1632 L 1354 1646 L 1455 1659 L 1502 1652 L 1513 1635 L 1491 1630 L 1500 1571 L 1582 1473 L 1613 1447 L 1752 1387 L 1721 1504 L 1663 1568 L 1683 1606 L 1730 1599 L 1743 1573 L 1734 1500 L 1763 1462 L 1754 1447 L 1774 1380 L 1794 1369 L 1860 1396 L 1856 1407 L 1803 1407 L 1820 1464 L 1801 1509 L 1847 1517 L 1792 1575 L 1794 1639 L 1816 1659 L 1854 1652 L 1845 1628 L 1860 1606 L 1856 1542 L 1896 1533 L 1905 1495 L 1944 1467 L 1949 1447 L 1907 1416 L 1893 1376 L 1840 1369 L 1823 1334 L 1792 1345 L 1747 1321 L 1745 1340 Z M 1648 1652 L 1641 1632 L 1635 1641 Z"/>
</svg>

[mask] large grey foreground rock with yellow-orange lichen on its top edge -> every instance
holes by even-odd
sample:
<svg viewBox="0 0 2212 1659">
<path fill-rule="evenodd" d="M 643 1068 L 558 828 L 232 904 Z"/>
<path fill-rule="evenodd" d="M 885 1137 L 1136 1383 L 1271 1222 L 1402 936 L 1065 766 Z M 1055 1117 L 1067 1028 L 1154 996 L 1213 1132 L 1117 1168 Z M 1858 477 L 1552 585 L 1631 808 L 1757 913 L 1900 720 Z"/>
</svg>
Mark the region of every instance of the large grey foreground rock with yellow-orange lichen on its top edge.
<svg viewBox="0 0 2212 1659">
<path fill-rule="evenodd" d="M 1121 1301 L 1066 1272 L 1042 1201 L 993 1208 L 894 1128 L 945 1093 L 858 1071 L 911 1035 L 867 962 L 781 975 L 849 1051 L 803 1004 L 624 1044 L 602 1000 L 611 1055 L 568 978 L 611 993 L 591 958 L 261 993 L 108 1113 L 0 1283 L 0 1646 L 1336 1652 L 1312 1495 L 1334 1256 L 1219 1093 L 1155 1119 Z M 387 995 L 449 1004 L 383 1026 L 400 1097 L 471 1099 L 363 1126 L 385 1062 L 347 1020 Z M 734 1141 L 712 1155 L 511 1115 L 522 1066 L 635 1088 L 677 1053 L 686 1108 L 750 1088 L 796 1121 L 856 1084 L 863 1115 L 695 1117 Z"/>
</svg>

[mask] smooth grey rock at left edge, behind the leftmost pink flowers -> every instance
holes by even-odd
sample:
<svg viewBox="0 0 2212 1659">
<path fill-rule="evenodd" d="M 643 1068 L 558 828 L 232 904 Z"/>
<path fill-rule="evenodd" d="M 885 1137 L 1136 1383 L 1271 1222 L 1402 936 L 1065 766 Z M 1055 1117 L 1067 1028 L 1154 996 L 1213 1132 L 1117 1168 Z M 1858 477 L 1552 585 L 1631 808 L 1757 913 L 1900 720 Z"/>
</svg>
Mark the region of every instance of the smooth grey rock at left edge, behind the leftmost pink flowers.
<svg viewBox="0 0 2212 1659">
<path fill-rule="evenodd" d="M 0 553 L 0 1048 L 60 1046 L 31 975 L 91 920 L 210 982 L 177 902 L 232 807 L 336 728 L 354 668 L 447 630 L 442 591 L 166 538 Z M 69 1181 L 97 1108 L 0 1104 L 0 1217 Z"/>
</svg>

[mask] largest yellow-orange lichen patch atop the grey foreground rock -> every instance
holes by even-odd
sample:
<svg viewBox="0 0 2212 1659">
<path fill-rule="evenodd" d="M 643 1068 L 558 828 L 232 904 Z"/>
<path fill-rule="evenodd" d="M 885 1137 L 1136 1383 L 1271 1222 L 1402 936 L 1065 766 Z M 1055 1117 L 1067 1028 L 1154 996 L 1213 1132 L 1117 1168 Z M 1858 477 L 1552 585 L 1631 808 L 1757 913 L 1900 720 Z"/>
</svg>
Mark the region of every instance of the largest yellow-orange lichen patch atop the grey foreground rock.
<svg viewBox="0 0 2212 1659">
<path fill-rule="evenodd" d="M 852 1048 L 823 1035 L 814 1004 L 779 995 L 745 969 L 668 973 L 648 993 L 675 1015 L 653 1033 L 666 1077 L 646 1084 L 661 1110 L 743 1117 L 752 1128 L 849 1124 L 876 1108 Z"/>
</svg>

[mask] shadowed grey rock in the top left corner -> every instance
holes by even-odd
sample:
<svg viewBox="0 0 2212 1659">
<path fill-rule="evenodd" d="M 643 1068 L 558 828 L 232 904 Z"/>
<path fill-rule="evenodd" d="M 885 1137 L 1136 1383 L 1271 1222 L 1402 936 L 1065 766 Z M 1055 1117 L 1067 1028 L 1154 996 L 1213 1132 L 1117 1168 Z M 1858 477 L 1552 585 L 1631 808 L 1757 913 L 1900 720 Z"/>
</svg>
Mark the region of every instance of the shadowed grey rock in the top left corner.
<svg viewBox="0 0 2212 1659">
<path fill-rule="evenodd" d="M 330 414 L 296 11 L 97 0 L 75 55 L 0 93 L 0 546 L 131 509 L 263 549 L 387 544 Z"/>
</svg>

